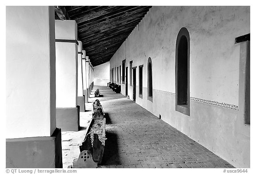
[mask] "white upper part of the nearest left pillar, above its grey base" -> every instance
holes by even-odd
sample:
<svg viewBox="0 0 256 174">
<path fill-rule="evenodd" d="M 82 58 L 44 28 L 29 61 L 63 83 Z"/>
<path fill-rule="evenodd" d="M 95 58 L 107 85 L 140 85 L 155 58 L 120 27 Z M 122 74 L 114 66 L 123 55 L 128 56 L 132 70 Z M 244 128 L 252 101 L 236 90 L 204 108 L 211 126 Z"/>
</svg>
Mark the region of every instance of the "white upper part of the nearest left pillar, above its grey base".
<svg viewBox="0 0 256 174">
<path fill-rule="evenodd" d="M 6 138 L 56 128 L 54 7 L 6 7 Z"/>
</svg>

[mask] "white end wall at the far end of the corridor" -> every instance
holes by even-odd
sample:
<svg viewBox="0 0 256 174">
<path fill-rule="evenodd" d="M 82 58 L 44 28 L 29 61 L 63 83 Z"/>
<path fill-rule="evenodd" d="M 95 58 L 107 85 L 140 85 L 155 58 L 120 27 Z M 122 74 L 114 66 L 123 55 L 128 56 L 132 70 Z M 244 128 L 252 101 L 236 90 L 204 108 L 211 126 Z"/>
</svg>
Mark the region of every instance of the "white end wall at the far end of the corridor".
<svg viewBox="0 0 256 174">
<path fill-rule="evenodd" d="M 109 68 L 110 68 L 110 62 L 106 62 L 104 64 L 101 64 L 99 66 L 94 66 L 94 85 L 100 85 L 100 86 L 106 86 L 109 82 Z"/>
</svg>

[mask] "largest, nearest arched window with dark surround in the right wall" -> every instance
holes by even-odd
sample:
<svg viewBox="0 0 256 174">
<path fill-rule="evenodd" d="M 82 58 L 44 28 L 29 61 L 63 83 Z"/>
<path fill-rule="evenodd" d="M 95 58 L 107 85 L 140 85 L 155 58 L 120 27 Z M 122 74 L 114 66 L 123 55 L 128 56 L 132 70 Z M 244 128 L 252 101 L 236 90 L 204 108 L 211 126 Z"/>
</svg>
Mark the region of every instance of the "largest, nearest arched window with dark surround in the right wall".
<svg viewBox="0 0 256 174">
<path fill-rule="evenodd" d="M 190 37 L 186 28 L 181 28 L 176 40 L 175 84 L 176 111 L 189 116 L 189 56 Z"/>
</svg>

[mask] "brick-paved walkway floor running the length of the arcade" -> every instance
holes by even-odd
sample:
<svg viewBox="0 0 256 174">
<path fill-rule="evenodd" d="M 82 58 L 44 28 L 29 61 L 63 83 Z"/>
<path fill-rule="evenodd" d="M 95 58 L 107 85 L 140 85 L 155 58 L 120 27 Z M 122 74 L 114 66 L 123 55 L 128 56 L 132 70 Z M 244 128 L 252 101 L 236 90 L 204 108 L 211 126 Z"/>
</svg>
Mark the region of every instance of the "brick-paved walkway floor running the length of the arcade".
<svg viewBox="0 0 256 174">
<path fill-rule="evenodd" d="M 94 90 L 97 88 L 103 95 L 98 99 L 106 114 L 107 137 L 99 168 L 233 167 L 122 94 L 104 86 L 95 86 Z M 89 99 L 93 101 L 95 98 Z M 77 142 L 84 136 L 89 113 L 80 116 L 81 131 L 62 132 L 63 167 L 79 156 Z"/>
</svg>

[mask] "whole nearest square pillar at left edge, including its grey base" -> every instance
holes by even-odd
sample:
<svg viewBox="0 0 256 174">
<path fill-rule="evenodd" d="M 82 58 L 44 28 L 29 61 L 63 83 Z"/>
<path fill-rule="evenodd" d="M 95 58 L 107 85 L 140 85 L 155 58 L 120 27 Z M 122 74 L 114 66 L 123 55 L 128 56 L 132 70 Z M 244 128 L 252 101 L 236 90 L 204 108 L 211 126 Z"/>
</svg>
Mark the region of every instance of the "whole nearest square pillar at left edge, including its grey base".
<svg viewBox="0 0 256 174">
<path fill-rule="evenodd" d="M 54 6 L 6 7 L 7 168 L 62 168 L 54 27 Z"/>
</svg>

